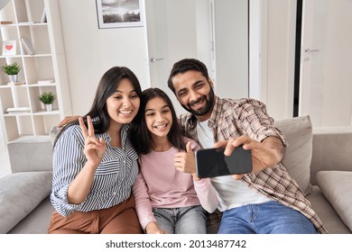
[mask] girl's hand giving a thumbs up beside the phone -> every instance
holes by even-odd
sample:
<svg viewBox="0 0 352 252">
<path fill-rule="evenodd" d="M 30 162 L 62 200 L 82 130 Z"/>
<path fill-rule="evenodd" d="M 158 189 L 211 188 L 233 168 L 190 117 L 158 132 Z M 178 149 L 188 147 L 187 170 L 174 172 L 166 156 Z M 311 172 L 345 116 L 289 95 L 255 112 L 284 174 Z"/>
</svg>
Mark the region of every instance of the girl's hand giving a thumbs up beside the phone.
<svg viewBox="0 0 352 252">
<path fill-rule="evenodd" d="M 190 141 L 186 144 L 186 152 L 178 152 L 173 158 L 173 163 L 176 169 L 182 173 L 188 173 L 193 176 L 194 180 L 199 180 L 196 174 L 196 160 L 194 153 L 190 147 Z"/>
</svg>

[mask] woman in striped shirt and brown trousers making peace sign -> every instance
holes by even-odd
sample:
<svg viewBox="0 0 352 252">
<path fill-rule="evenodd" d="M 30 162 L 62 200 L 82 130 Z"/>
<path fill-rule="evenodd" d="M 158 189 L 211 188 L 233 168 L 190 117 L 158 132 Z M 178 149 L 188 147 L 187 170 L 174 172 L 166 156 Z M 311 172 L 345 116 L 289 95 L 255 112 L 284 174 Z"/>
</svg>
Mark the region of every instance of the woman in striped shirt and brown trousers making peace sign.
<svg viewBox="0 0 352 252">
<path fill-rule="evenodd" d="M 97 86 L 90 112 L 60 131 L 53 148 L 56 211 L 49 233 L 142 233 L 131 195 L 138 156 L 128 139 L 141 93 L 130 69 L 112 67 Z"/>
</svg>

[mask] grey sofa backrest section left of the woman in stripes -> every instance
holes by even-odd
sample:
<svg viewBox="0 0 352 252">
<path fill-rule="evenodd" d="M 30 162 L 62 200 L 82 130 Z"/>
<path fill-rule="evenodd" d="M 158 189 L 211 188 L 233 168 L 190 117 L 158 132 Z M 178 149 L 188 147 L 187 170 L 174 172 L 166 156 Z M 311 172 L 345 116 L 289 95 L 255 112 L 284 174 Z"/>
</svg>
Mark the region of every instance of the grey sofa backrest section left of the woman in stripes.
<svg viewBox="0 0 352 252">
<path fill-rule="evenodd" d="M 52 171 L 49 136 L 23 137 L 7 144 L 12 173 Z"/>
</svg>

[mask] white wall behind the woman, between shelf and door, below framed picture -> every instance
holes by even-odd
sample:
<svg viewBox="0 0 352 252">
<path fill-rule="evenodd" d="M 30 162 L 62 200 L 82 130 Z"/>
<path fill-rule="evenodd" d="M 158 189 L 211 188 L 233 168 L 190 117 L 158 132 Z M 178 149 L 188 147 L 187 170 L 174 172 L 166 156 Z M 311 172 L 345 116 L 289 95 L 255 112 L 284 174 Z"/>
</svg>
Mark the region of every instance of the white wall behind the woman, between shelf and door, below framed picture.
<svg viewBox="0 0 352 252">
<path fill-rule="evenodd" d="M 73 114 L 88 112 L 97 83 L 110 67 L 129 67 L 147 86 L 143 27 L 98 29 L 95 0 L 59 4 Z"/>
</svg>

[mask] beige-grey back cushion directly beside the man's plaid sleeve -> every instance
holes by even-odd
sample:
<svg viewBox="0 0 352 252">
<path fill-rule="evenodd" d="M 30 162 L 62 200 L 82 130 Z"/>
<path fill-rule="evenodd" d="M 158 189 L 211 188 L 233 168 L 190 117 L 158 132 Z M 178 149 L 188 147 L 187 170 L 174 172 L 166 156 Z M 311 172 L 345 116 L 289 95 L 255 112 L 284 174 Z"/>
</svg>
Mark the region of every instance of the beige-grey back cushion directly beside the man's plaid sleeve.
<svg viewBox="0 0 352 252">
<path fill-rule="evenodd" d="M 313 139 L 310 116 L 275 121 L 274 126 L 283 132 L 288 142 L 283 164 L 287 167 L 288 173 L 299 184 L 301 190 L 309 194 L 311 190 L 310 161 Z"/>
</svg>

